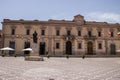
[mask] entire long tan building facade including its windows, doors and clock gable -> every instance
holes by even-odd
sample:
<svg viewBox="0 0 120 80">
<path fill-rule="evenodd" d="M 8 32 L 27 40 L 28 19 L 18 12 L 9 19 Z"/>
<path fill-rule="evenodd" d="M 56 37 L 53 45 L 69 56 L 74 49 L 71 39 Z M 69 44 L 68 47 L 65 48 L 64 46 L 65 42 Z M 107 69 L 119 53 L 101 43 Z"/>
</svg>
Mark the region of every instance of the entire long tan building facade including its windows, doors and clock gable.
<svg viewBox="0 0 120 80">
<path fill-rule="evenodd" d="M 119 55 L 120 24 L 85 21 L 76 15 L 73 20 L 10 20 L 2 22 L 4 47 L 15 49 L 18 54 L 24 48 L 32 47 L 32 35 L 37 32 L 38 52 L 53 56 L 62 55 Z M 13 51 L 9 52 L 12 55 Z"/>
</svg>

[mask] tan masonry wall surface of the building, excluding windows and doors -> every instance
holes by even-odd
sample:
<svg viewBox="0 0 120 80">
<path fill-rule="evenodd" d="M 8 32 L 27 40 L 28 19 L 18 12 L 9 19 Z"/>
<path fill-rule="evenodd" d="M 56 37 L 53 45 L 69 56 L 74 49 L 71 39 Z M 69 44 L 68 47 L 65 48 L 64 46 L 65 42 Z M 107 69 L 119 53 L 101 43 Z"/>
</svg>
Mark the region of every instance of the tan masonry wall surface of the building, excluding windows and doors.
<svg viewBox="0 0 120 80">
<path fill-rule="evenodd" d="M 79 20 L 81 23 L 76 22 Z M 30 47 L 32 47 L 32 35 L 36 31 L 38 33 L 38 47 L 40 48 L 40 42 L 45 42 L 45 52 L 48 52 L 50 55 L 65 55 L 67 41 L 72 43 L 72 55 L 89 55 L 87 54 L 89 42 L 92 42 L 93 45 L 92 55 L 111 55 L 111 44 L 115 44 L 115 50 L 120 49 L 120 38 L 116 36 L 118 29 L 120 29 L 119 24 L 84 21 L 84 17 L 80 15 L 75 16 L 73 21 L 21 21 L 7 19 L 2 22 L 4 47 L 9 46 L 10 41 L 15 41 L 15 51 L 21 54 L 23 53 L 21 50 L 24 49 L 26 41 L 30 42 Z M 11 35 L 12 29 L 15 29 L 15 35 Z M 30 30 L 29 35 L 26 35 L 27 29 Z M 45 35 L 41 35 L 42 30 L 45 30 Z M 56 30 L 60 31 L 59 36 L 56 36 Z M 71 35 L 75 37 L 73 40 L 67 39 L 67 30 L 70 30 Z M 81 31 L 81 36 L 78 36 L 78 31 Z M 91 37 L 88 36 L 89 31 L 92 33 Z M 101 37 L 98 37 L 99 31 L 101 31 Z M 109 32 L 113 32 L 114 37 L 109 37 Z M 66 39 L 64 39 L 63 35 L 67 35 Z M 56 43 L 60 45 L 58 49 L 56 49 Z M 78 49 L 79 43 L 81 43 L 80 49 Z M 102 44 L 101 49 L 98 49 L 99 43 Z"/>
</svg>

